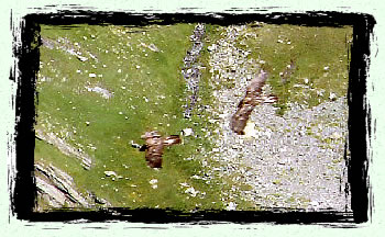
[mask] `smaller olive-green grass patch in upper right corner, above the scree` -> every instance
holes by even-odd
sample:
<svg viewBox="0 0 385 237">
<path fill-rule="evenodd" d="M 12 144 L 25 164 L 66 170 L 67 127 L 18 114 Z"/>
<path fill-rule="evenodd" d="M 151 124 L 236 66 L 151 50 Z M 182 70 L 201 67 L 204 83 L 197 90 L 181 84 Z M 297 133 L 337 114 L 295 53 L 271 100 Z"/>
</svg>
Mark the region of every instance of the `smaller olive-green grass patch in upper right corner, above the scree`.
<svg viewBox="0 0 385 237">
<path fill-rule="evenodd" d="M 276 106 L 282 110 L 278 113 L 285 112 L 287 102 L 315 106 L 329 100 L 330 92 L 337 97 L 346 95 L 351 26 L 262 24 L 262 27 L 249 27 L 248 33 L 256 34 L 256 38 L 240 38 L 238 46 L 250 49 L 251 57 L 257 61 L 265 61 L 262 67 L 270 74 L 267 82 L 279 98 Z M 285 71 L 290 60 L 295 61 L 296 69 L 289 80 L 283 83 L 279 72 Z M 326 70 L 324 67 L 329 68 Z M 309 88 L 302 89 L 295 84 Z M 323 94 L 317 94 L 320 90 L 323 90 Z"/>
</svg>

